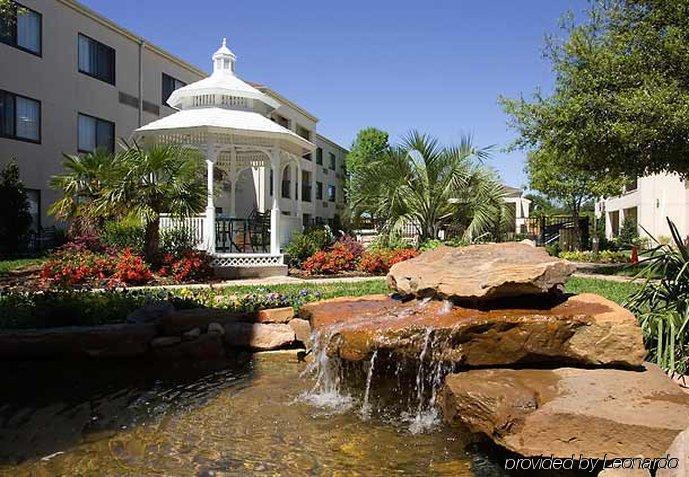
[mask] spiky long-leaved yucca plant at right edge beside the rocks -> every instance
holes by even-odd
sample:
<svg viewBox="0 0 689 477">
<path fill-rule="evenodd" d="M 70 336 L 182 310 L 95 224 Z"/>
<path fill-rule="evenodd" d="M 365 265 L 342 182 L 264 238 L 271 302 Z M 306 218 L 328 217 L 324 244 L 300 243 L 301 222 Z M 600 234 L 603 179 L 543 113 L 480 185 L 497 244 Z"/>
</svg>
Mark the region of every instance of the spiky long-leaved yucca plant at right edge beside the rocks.
<svg viewBox="0 0 689 477">
<path fill-rule="evenodd" d="M 668 218 L 672 243 L 644 254 L 637 278 L 643 286 L 626 303 L 644 333 L 649 360 L 671 374 L 689 368 L 689 250 L 677 226 Z"/>
</svg>

